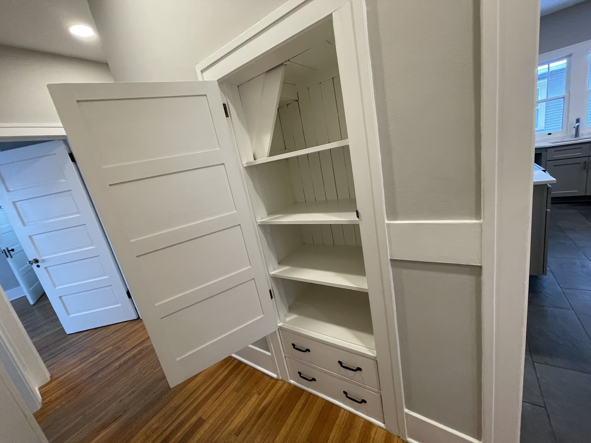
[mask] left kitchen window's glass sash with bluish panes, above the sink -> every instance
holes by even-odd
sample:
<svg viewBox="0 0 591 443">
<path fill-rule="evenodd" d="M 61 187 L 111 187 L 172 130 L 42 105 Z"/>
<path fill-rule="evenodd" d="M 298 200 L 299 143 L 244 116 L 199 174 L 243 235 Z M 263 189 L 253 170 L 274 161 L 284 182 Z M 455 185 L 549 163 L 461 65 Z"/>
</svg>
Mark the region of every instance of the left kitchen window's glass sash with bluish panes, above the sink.
<svg viewBox="0 0 591 443">
<path fill-rule="evenodd" d="M 566 58 L 546 61 L 538 65 L 536 133 L 555 132 L 563 129 L 566 67 Z"/>
</svg>

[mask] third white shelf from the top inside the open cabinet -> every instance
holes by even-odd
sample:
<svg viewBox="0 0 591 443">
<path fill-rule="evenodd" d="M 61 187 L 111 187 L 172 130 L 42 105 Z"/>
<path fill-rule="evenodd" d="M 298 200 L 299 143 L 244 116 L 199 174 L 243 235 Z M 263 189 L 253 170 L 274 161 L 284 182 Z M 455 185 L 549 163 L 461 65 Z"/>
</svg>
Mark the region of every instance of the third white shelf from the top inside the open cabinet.
<svg viewBox="0 0 591 443">
<path fill-rule="evenodd" d="M 301 245 L 282 259 L 271 276 L 368 291 L 361 246 Z"/>
</svg>

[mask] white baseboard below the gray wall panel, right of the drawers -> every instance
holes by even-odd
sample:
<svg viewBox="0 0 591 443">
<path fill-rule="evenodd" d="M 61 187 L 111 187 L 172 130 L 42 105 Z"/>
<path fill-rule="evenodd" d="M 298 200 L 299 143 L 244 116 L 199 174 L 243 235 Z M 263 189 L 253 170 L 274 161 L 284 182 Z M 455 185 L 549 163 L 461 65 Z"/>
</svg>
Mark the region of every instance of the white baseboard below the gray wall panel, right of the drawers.
<svg viewBox="0 0 591 443">
<path fill-rule="evenodd" d="M 408 443 L 480 443 L 479 440 L 405 409 Z"/>
</svg>

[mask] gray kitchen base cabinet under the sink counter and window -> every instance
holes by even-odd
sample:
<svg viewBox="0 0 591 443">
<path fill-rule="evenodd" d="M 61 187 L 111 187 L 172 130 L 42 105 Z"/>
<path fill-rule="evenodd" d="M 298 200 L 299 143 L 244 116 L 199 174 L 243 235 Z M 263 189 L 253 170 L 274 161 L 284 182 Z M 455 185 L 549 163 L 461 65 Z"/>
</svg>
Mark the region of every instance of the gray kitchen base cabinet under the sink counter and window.
<svg viewBox="0 0 591 443">
<path fill-rule="evenodd" d="M 552 185 L 552 197 L 591 195 L 590 144 L 564 145 L 540 152 L 545 155 L 545 170 L 556 183 Z M 540 164 L 541 163 L 541 164 Z M 544 166 L 544 161 L 541 161 Z"/>
</svg>

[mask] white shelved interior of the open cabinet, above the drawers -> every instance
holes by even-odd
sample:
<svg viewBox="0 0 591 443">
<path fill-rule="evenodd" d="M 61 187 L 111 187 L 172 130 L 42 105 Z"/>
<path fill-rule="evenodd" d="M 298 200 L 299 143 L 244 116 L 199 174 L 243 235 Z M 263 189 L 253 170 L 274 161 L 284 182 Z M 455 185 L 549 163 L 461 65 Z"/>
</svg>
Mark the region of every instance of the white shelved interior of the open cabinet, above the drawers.
<svg viewBox="0 0 591 443">
<path fill-rule="evenodd" d="M 280 327 L 375 356 L 332 21 L 312 32 L 238 86 L 245 177 Z"/>
</svg>

